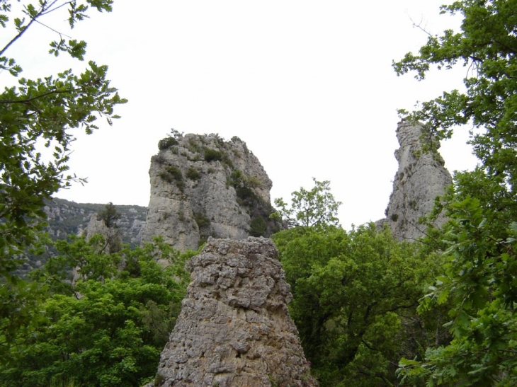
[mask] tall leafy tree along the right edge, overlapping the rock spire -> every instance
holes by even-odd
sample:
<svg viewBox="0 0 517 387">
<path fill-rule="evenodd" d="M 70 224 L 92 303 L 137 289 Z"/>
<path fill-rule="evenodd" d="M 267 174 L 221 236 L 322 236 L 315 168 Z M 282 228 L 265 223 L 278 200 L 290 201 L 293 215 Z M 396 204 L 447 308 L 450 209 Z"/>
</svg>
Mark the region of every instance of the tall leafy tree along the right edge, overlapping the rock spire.
<svg viewBox="0 0 517 387">
<path fill-rule="evenodd" d="M 448 261 L 429 288 L 421 311 L 450 303 L 453 340 L 403 359 L 404 378 L 428 385 L 517 384 L 517 17 L 516 0 L 462 0 L 442 6 L 460 13 L 459 33 L 429 36 L 419 54 L 394 63 L 397 74 L 424 79 L 432 65 L 468 66 L 465 91 L 445 92 L 420 105 L 409 120 L 430 134 L 450 137 L 456 125 L 472 125 L 470 143 L 479 158 L 474 171 L 455 173 L 438 203 L 450 218 L 438 246 Z"/>
</svg>

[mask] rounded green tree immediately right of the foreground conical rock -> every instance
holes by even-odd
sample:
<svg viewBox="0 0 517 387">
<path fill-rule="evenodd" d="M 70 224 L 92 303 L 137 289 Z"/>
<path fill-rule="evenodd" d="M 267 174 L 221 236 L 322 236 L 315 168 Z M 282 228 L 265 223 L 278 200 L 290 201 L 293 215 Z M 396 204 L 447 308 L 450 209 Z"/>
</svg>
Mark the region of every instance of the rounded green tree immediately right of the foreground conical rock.
<svg viewBox="0 0 517 387">
<path fill-rule="evenodd" d="M 413 357 L 433 339 L 416 306 L 438 261 L 373 224 L 350 232 L 295 227 L 273 241 L 291 286 L 290 315 L 320 386 L 397 383 L 400 355 Z"/>
</svg>

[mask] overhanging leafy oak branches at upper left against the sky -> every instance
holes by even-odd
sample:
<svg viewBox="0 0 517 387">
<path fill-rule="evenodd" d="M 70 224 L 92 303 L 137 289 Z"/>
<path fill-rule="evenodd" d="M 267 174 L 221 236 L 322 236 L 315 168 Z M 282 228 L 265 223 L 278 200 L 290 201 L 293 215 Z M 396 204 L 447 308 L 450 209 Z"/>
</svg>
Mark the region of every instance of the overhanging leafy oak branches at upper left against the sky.
<svg viewBox="0 0 517 387">
<path fill-rule="evenodd" d="M 22 68 L 8 51 L 35 23 L 49 13 L 68 11 L 70 28 L 89 17 L 90 8 L 112 10 L 113 0 L 59 1 L 39 0 L 36 4 L 21 1 L 21 14 L 12 16 L 17 8 L 12 0 L 0 0 L 0 25 L 13 36 L 0 48 L 0 70 L 18 77 Z M 45 25 L 45 24 L 43 24 Z M 52 28 L 51 28 L 52 29 Z M 67 52 L 83 60 L 86 42 L 59 40 L 50 43 L 50 54 Z M 9 277 L 23 250 L 35 241 L 41 229 L 44 200 L 62 187 L 73 175 L 67 175 L 69 146 L 74 140 L 73 129 L 91 134 L 97 129 L 98 117 L 108 124 L 118 118 L 115 105 L 126 100 L 106 79 L 108 67 L 90 61 L 82 74 L 71 69 L 38 79 L 19 78 L 17 86 L 4 88 L 0 94 L 0 275 Z M 52 149 L 50 161 L 44 161 L 38 146 Z"/>
</svg>

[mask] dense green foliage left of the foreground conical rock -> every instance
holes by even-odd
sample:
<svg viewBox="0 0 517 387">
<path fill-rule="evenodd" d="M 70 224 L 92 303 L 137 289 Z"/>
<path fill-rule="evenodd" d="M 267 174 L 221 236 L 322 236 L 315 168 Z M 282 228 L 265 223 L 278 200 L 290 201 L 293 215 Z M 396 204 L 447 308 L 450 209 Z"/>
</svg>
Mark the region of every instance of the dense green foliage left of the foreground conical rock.
<svg viewBox="0 0 517 387">
<path fill-rule="evenodd" d="M 61 255 L 33 272 L 26 286 L 38 291 L 32 308 L 38 318 L 12 331 L 8 346 L 0 335 L 0 386 L 142 386 L 152 380 L 181 310 L 184 262 L 193 253 L 180 255 L 157 239 L 104 254 L 102 239 L 59 241 Z M 70 283 L 70 267 L 84 279 Z M 8 323 L 4 316 L 1 322 Z"/>
</svg>

